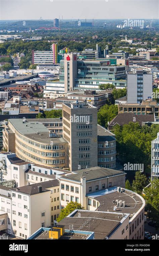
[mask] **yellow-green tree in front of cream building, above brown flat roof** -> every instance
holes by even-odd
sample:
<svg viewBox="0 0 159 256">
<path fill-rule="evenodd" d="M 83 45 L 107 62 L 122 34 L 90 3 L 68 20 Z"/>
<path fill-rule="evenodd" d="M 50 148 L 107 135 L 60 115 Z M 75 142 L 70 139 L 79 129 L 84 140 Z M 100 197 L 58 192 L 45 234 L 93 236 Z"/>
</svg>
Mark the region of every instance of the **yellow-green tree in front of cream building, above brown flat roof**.
<svg viewBox="0 0 159 256">
<path fill-rule="evenodd" d="M 67 203 L 66 207 L 61 210 L 59 217 L 57 218 L 57 222 L 62 220 L 63 218 L 67 217 L 70 213 L 72 213 L 74 210 L 84 210 L 84 207 L 81 205 L 81 203 L 77 202 L 69 202 Z"/>
</svg>

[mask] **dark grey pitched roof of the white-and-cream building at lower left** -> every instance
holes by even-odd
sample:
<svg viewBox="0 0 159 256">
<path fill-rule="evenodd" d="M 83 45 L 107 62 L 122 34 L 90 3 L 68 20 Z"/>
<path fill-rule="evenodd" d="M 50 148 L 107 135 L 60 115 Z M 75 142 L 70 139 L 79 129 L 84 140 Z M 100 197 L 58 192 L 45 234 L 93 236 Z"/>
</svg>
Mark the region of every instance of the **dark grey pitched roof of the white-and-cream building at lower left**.
<svg viewBox="0 0 159 256">
<path fill-rule="evenodd" d="M 38 186 L 42 186 L 42 192 L 47 192 L 47 191 L 49 191 L 49 190 L 47 190 L 47 188 L 59 186 L 59 181 L 51 180 L 51 181 L 46 181 L 46 182 L 40 182 L 40 183 L 35 183 L 35 184 L 19 187 L 18 190 L 17 190 L 17 188 L 13 188 L 10 190 L 18 191 L 19 193 L 23 193 L 23 194 L 27 194 L 27 195 L 35 195 L 35 194 L 39 193 Z"/>
</svg>

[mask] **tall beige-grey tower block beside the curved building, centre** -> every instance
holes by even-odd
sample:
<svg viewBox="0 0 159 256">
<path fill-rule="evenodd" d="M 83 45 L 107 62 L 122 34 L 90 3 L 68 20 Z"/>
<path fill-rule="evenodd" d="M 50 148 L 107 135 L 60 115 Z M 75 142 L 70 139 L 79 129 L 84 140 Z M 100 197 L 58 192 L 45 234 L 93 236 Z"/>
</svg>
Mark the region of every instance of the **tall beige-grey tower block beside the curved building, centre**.
<svg viewBox="0 0 159 256">
<path fill-rule="evenodd" d="M 68 141 L 69 169 L 97 166 L 97 108 L 78 102 L 63 104 L 63 138 Z"/>
</svg>

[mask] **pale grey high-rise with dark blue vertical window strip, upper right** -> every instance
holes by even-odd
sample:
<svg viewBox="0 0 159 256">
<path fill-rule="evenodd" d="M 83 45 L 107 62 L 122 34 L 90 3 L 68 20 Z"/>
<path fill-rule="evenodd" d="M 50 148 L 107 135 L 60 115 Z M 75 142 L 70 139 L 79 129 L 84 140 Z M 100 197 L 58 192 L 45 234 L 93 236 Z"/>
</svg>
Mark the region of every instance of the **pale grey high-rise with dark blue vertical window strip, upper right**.
<svg viewBox="0 0 159 256">
<path fill-rule="evenodd" d="M 152 97 L 153 74 L 137 68 L 127 71 L 127 103 L 142 103 Z"/>
</svg>

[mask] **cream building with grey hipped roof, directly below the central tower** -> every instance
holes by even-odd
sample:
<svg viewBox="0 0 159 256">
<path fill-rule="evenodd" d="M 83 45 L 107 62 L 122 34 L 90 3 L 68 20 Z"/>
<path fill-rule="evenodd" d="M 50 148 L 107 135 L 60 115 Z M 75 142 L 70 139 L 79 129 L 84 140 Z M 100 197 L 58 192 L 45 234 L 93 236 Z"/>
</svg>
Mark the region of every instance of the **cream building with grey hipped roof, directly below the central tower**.
<svg viewBox="0 0 159 256">
<path fill-rule="evenodd" d="M 107 169 L 102 167 L 92 167 L 77 170 L 72 174 L 61 177 L 60 180 L 60 202 L 63 209 L 68 202 L 81 203 L 86 210 L 87 195 L 114 186 L 125 186 L 125 175 L 123 171 Z"/>
</svg>

